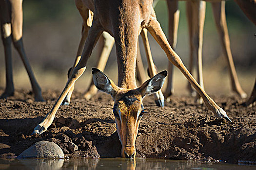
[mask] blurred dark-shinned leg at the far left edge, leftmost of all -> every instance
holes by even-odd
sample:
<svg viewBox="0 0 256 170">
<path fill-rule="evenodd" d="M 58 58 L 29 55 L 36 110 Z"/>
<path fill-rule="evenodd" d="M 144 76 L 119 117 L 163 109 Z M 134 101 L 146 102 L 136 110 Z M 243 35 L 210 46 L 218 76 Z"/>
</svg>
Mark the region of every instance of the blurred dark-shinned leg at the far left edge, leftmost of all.
<svg viewBox="0 0 256 170">
<path fill-rule="evenodd" d="M 5 0 L 0 1 L 0 26 L 1 38 L 4 47 L 5 70 L 6 70 L 6 87 L 0 99 L 14 95 L 13 71 L 12 71 L 12 28 L 10 11 Z"/>
</svg>

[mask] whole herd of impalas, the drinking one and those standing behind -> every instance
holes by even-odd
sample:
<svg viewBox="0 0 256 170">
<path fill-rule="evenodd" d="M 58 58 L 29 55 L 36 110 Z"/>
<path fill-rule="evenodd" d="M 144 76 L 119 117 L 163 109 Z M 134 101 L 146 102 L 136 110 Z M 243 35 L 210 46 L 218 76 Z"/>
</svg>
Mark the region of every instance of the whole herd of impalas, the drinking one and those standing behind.
<svg viewBox="0 0 256 170">
<path fill-rule="evenodd" d="M 173 50 L 177 42 L 177 25 L 179 11 L 177 0 L 167 0 L 169 11 L 169 41 L 163 33 L 156 18 L 153 0 L 75 0 L 76 6 L 83 19 L 82 37 L 73 67 L 69 70 L 68 81 L 54 104 L 51 111 L 34 129 L 34 133 L 42 134 L 54 120 L 61 104 L 69 104 L 74 84 L 86 69 L 87 61 L 98 39 L 101 42 L 101 55 L 97 68 L 92 69 L 94 85 L 84 95 L 90 99 L 97 88 L 106 92 L 114 99 L 113 113 L 116 120 L 118 136 L 121 141 L 122 157 L 135 157 L 135 140 L 138 134 L 138 125 L 144 113 L 142 100 L 145 96 L 155 93 L 155 102 L 164 106 L 164 95 L 161 87 L 167 76 L 167 71 L 157 74 L 150 52 L 147 32 L 152 34 L 170 61 L 168 70 L 168 85 L 165 97 L 173 93 L 172 65 L 180 69 L 189 83 L 196 89 L 197 102 L 204 102 L 206 106 L 219 118 L 231 121 L 222 110 L 204 91 L 202 79 L 202 35 L 205 17 L 205 1 L 187 0 L 187 16 L 190 35 L 191 57 L 189 70 L 183 65 L 177 53 Z M 228 61 L 232 89 L 242 98 L 246 94 L 242 90 L 236 75 L 234 62 L 230 50 L 230 42 L 225 17 L 225 1 L 208 0 L 212 3 L 217 30 L 221 45 Z M 256 0 L 235 0 L 245 15 L 256 24 Z M 154 4 L 157 0 L 154 1 Z M 30 64 L 27 60 L 22 42 L 22 0 L 0 0 L 1 37 L 4 44 L 6 65 L 6 88 L 0 98 L 7 98 L 14 94 L 11 43 L 20 54 L 22 62 L 28 72 L 36 101 L 43 101 L 41 89 Z M 149 67 L 149 80 L 137 87 L 136 69 L 141 81 L 145 80 L 141 71 L 141 60 L 138 53 L 138 36 L 142 36 Z M 101 36 L 102 35 L 102 36 Z M 101 37 L 100 37 L 101 36 Z M 114 38 L 113 38 L 114 37 Z M 116 45 L 118 61 L 118 84 L 116 85 L 102 71 L 106 65 L 108 55 Z M 190 74 L 193 68 L 194 55 L 197 59 L 198 82 Z M 138 56 L 138 58 L 137 58 Z M 172 63 L 172 64 L 171 64 Z M 138 66 L 136 67 L 136 64 Z M 99 68 L 99 69 L 98 69 Z M 191 85 L 188 85 L 192 92 Z M 256 101 L 256 85 L 246 105 Z"/>
</svg>

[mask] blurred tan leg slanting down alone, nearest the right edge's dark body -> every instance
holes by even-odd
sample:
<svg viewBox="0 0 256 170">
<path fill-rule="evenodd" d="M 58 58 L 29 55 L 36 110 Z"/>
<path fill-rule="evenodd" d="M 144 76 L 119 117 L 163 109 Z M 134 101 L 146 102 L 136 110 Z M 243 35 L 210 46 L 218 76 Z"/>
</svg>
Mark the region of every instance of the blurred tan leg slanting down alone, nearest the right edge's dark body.
<svg viewBox="0 0 256 170">
<path fill-rule="evenodd" d="M 241 98 L 246 98 L 247 95 L 243 91 L 237 78 L 236 68 L 235 68 L 235 64 L 234 64 L 231 49 L 230 49 L 230 40 L 228 35 L 228 27 L 227 27 L 226 14 L 225 14 L 225 1 L 212 2 L 212 8 L 213 8 L 216 27 L 221 40 L 221 46 L 228 63 L 232 90 L 235 91 L 238 95 L 240 95 Z"/>
</svg>

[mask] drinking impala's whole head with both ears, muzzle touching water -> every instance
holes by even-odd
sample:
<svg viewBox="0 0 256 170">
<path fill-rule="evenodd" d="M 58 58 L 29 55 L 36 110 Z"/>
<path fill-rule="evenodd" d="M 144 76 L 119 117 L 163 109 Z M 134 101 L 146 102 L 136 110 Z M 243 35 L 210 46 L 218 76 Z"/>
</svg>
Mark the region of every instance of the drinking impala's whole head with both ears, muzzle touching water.
<svg viewBox="0 0 256 170">
<path fill-rule="evenodd" d="M 135 140 L 138 124 L 144 114 L 142 99 L 160 90 L 167 75 L 162 71 L 135 89 L 120 88 L 97 68 L 92 69 L 96 87 L 114 99 L 113 114 L 115 116 L 118 136 L 122 144 L 122 157 L 135 157 Z"/>
</svg>

